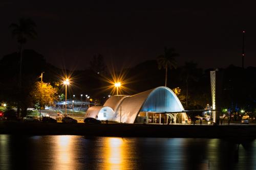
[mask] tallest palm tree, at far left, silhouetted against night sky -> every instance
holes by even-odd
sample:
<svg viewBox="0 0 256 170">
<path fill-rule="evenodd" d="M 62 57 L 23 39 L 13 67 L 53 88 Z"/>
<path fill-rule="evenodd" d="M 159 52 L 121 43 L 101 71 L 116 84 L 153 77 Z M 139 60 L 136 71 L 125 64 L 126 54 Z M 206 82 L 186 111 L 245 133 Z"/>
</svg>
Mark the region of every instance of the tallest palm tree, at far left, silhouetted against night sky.
<svg viewBox="0 0 256 170">
<path fill-rule="evenodd" d="M 37 36 L 35 31 L 35 22 L 29 18 L 20 18 L 19 23 L 11 23 L 9 29 L 12 30 L 12 35 L 17 38 L 19 43 L 19 93 L 22 88 L 22 59 L 23 59 L 23 45 L 27 42 L 28 38 L 34 39 Z M 18 102 L 19 103 L 19 102 Z M 17 115 L 19 117 L 19 104 L 17 106 Z"/>
</svg>

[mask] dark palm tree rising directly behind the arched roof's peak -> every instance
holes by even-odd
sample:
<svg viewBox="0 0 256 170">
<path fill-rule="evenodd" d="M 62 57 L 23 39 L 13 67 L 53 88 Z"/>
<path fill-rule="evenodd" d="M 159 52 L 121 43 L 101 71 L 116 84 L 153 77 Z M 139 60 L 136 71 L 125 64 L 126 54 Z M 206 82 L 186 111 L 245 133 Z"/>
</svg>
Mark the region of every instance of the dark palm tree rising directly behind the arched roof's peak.
<svg viewBox="0 0 256 170">
<path fill-rule="evenodd" d="M 167 69 L 177 68 L 175 57 L 178 56 L 179 54 L 175 53 L 174 48 L 164 47 L 164 54 L 157 57 L 158 68 L 165 69 L 165 86 L 167 86 Z"/>
</svg>

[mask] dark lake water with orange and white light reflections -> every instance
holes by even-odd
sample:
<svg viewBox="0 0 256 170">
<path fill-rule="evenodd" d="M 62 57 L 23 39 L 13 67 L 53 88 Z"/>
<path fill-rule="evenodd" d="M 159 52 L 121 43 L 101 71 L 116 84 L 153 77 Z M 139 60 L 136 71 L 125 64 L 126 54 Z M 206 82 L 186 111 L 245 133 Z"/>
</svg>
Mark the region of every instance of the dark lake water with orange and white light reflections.
<svg viewBox="0 0 256 170">
<path fill-rule="evenodd" d="M 0 135 L 0 169 L 256 169 L 256 140 Z"/>
</svg>

